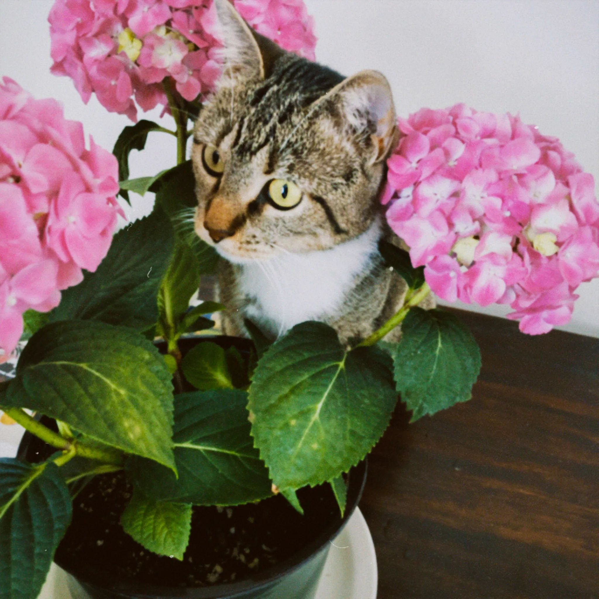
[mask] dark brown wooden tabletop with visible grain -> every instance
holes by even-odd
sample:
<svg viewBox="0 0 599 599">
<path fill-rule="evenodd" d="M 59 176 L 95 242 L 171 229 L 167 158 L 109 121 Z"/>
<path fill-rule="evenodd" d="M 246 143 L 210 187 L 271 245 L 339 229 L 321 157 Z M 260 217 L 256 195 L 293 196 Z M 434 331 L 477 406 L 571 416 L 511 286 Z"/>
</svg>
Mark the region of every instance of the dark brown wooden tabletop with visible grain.
<svg viewBox="0 0 599 599">
<path fill-rule="evenodd" d="M 369 458 L 379 599 L 597 599 L 599 339 L 455 312 L 472 400 L 414 424 L 400 404 Z"/>
</svg>

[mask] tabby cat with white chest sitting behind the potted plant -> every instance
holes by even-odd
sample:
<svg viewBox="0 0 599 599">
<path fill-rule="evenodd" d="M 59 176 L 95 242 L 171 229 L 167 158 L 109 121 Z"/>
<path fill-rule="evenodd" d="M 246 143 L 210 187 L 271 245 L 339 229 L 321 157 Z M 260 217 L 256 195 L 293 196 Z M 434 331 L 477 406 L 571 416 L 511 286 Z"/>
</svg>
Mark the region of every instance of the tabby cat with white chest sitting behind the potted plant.
<svg viewBox="0 0 599 599">
<path fill-rule="evenodd" d="M 276 338 L 320 320 L 342 343 L 367 337 L 406 292 L 377 249 L 391 237 L 378 199 L 398 136 L 389 84 L 285 52 L 215 5 L 225 68 L 192 159 L 195 231 L 225 258 L 223 329 L 244 335 L 247 318 Z"/>
</svg>

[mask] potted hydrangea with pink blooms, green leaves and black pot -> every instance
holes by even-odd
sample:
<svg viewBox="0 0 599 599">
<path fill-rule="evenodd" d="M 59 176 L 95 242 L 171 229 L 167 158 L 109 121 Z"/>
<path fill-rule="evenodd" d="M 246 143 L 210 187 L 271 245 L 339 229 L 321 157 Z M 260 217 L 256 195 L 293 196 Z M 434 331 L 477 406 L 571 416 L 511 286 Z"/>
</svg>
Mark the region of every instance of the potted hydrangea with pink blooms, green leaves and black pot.
<svg viewBox="0 0 599 599">
<path fill-rule="evenodd" d="M 302 2 L 233 4 L 313 59 Z M 380 245 L 406 285 L 400 309 L 352 343 L 322 322 L 276 339 L 250 322 L 252 340 L 208 337 L 207 316 L 226 306 L 190 306 L 219 257 L 187 218 L 197 199 L 186 144 L 220 77 L 215 20 L 199 0 L 56 1 L 53 71 L 132 120 L 156 105 L 173 116 L 173 131 L 126 127 L 113 154 L 86 146 L 57 102 L 0 84 L 0 360 L 19 353 L 0 407 L 44 443 L 0 460 L 1 599 L 35 599 L 71 519 L 104 528 L 101 509 L 117 540 L 69 529 L 57 553 L 67 570 L 83 555 L 77 574 L 93 597 L 313 596 L 323 544 L 359 497 L 356 465 L 398 394 L 413 420 L 470 399 L 479 350 L 455 316 L 418 307 L 431 290 L 509 304 L 523 332 L 540 334 L 570 319 L 576 287 L 599 274 L 594 181 L 558 140 L 510 115 L 423 109 L 399 119 L 380 195 L 406 248 Z M 129 152 L 158 133 L 177 138 L 177 164 L 129 180 Z M 113 237 L 128 191 L 154 192 L 155 207 Z M 198 546 L 219 544 L 210 521 L 234 536 L 259 518 L 284 527 L 294 510 L 297 536 L 318 520 L 294 555 L 225 547 L 249 582 L 197 564 Z M 81 549 L 86 534 L 96 553 Z M 137 561 L 119 564 L 122 544 Z M 156 583 L 173 564 L 180 578 Z"/>
</svg>

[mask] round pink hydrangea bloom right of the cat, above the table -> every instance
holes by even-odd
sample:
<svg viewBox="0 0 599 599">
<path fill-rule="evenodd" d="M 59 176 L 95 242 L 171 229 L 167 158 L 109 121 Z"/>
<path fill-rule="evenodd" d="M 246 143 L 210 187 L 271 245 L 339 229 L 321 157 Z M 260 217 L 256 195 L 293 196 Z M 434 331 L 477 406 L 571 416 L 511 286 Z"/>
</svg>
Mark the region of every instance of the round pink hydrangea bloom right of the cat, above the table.
<svg viewBox="0 0 599 599">
<path fill-rule="evenodd" d="M 599 276 L 594 180 L 554 137 L 464 104 L 399 122 L 382 202 L 415 267 L 447 301 L 509 304 L 529 334 L 570 320 Z"/>
</svg>

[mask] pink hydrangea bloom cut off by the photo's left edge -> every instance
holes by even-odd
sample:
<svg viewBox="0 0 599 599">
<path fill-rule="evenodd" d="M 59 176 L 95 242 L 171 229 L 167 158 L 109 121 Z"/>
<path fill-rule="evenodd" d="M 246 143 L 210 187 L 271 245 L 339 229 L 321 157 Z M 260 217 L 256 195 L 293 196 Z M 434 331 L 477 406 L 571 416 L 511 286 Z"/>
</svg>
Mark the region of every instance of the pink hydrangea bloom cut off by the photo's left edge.
<svg viewBox="0 0 599 599">
<path fill-rule="evenodd" d="M 53 99 L 0 81 L 0 362 L 23 332 L 22 314 L 46 312 L 60 290 L 108 252 L 119 191 L 116 158 L 66 120 Z"/>
</svg>

